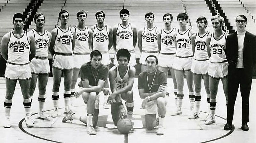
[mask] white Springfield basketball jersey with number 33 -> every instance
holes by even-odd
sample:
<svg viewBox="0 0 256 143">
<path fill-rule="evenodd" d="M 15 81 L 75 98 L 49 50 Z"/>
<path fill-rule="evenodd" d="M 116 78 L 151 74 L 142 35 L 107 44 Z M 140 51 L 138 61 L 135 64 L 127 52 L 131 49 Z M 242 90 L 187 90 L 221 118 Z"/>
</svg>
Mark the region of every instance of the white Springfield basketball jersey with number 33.
<svg viewBox="0 0 256 143">
<path fill-rule="evenodd" d="M 223 61 L 227 61 L 226 54 L 224 51 L 226 49 L 226 35 L 227 33 L 225 32 L 219 40 L 216 40 L 214 38 L 214 34 L 212 33 L 211 41 L 209 44 L 211 49 L 211 57 L 209 60 L 210 62 L 220 63 Z"/>
</svg>

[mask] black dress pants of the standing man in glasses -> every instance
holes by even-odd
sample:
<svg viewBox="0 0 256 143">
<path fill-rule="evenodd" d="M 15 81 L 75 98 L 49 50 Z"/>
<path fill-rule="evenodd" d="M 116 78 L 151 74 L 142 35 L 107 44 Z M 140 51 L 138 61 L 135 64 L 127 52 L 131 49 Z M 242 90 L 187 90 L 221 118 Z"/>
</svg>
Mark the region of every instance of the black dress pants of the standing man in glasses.
<svg viewBox="0 0 256 143">
<path fill-rule="evenodd" d="M 253 69 L 251 69 L 253 70 Z M 227 122 L 232 124 L 234 116 L 234 106 L 238 86 L 240 84 L 240 92 L 242 96 L 242 123 L 249 122 L 249 96 L 252 85 L 252 73 L 244 68 L 228 69 L 228 111 Z"/>
</svg>

